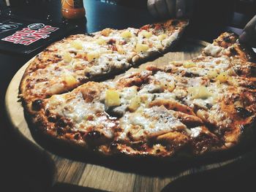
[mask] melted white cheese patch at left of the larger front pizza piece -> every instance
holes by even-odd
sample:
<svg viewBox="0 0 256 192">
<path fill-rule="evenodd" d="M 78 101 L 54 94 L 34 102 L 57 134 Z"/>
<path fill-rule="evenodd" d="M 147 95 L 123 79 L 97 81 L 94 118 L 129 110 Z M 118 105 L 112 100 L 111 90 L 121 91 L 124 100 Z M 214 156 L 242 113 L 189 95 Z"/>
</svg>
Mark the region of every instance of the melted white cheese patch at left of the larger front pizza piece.
<svg viewBox="0 0 256 192">
<path fill-rule="evenodd" d="M 87 128 L 99 127 L 105 137 L 113 137 L 112 128 L 116 126 L 116 123 L 108 120 L 106 115 L 97 115 L 104 114 L 104 104 L 99 101 L 86 103 L 80 92 L 72 99 L 66 99 L 67 94 L 52 96 L 48 99 L 45 108 L 52 114 L 61 115 L 70 120 L 74 125 L 73 131 L 86 131 Z"/>
</svg>

